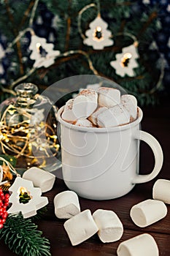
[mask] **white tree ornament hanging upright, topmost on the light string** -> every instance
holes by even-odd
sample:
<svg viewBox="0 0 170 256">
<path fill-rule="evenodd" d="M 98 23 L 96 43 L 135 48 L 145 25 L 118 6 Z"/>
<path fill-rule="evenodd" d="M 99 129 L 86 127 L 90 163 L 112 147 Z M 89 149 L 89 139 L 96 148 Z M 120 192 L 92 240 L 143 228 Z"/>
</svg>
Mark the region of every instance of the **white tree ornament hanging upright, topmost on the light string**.
<svg viewBox="0 0 170 256">
<path fill-rule="evenodd" d="M 87 38 L 84 39 L 84 44 L 92 46 L 95 50 L 102 50 L 105 46 L 113 45 L 113 40 L 110 39 L 112 33 L 107 29 L 108 24 L 101 18 L 97 17 L 90 23 L 90 29 L 85 32 Z"/>
</svg>

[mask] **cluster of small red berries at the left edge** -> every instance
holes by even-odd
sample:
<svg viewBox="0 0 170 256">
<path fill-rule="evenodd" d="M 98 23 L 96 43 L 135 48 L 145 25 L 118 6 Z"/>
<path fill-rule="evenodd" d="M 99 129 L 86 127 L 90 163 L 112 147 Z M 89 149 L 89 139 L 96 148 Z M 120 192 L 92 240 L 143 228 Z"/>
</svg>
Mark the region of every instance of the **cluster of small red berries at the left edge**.
<svg viewBox="0 0 170 256">
<path fill-rule="evenodd" d="M 9 194 L 3 193 L 0 189 L 0 229 L 4 227 L 4 222 L 6 222 L 8 213 L 7 206 L 9 205 Z"/>
</svg>

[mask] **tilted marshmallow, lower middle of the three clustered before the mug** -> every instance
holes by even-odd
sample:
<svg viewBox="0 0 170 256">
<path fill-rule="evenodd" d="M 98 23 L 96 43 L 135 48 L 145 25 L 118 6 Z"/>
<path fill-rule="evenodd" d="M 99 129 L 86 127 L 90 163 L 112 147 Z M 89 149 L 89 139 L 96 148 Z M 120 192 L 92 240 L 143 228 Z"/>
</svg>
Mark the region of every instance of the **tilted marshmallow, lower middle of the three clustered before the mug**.
<svg viewBox="0 0 170 256">
<path fill-rule="evenodd" d="M 98 231 L 90 210 L 82 211 L 68 219 L 63 226 L 73 246 L 82 243 Z"/>
</svg>

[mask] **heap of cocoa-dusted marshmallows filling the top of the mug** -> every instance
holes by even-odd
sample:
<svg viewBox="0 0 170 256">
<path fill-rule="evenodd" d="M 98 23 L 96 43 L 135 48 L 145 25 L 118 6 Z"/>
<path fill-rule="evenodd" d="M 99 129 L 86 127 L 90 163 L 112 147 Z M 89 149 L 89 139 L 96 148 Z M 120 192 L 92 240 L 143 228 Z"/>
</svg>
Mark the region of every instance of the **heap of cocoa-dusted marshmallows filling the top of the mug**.
<svg viewBox="0 0 170 256">
<path fill-rule="evenodd" d="M 137 100 L 133 95 L 120 97 L 120 91 L 100 87 L 84 89 L 64 106 L 62 118 L 80 127 L 115 127 L 137 117 Z"/>
</svg>

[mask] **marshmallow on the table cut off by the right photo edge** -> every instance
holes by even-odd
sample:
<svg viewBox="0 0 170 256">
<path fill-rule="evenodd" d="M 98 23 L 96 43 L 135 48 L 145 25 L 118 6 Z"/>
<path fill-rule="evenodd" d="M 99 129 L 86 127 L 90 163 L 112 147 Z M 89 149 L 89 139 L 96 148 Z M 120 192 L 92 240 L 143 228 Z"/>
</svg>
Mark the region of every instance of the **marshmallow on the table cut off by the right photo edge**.
<svg viewBox="0 0 170 256">
<path fill-rule="evenodd" d="M 152 188 L 153 198 L 170 204 L 170 181 L 158 179 Z"/>
</svg>

